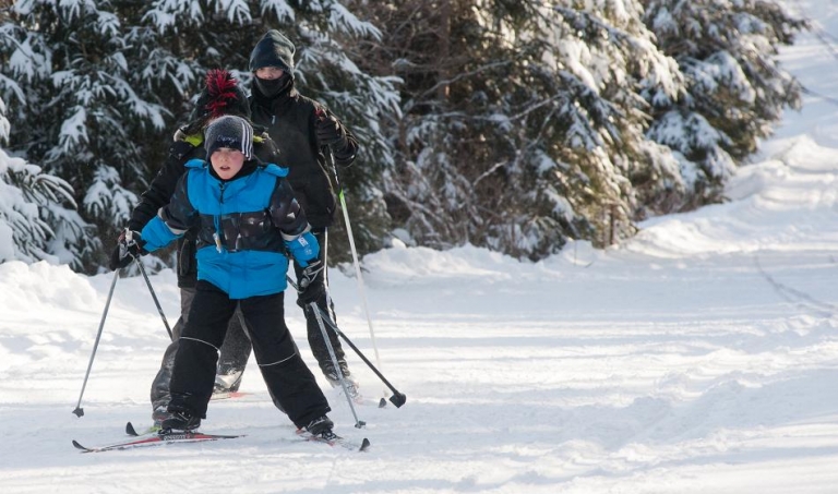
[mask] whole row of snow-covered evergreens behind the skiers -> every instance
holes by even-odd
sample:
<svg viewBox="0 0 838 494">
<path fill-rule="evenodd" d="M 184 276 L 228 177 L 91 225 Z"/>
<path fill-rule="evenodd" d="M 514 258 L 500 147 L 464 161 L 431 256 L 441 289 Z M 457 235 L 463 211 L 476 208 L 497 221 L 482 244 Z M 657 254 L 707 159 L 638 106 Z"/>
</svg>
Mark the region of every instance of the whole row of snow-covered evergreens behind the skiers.
<svg viewBox="0 0 838 494">
<path fill-rule="evenodd" d="M 0 262 L 101 270 L 203 75 L 249 87 L 268 28 L 362 144 L 361 253 L 616 242 L 723 201 L 804 91 L 775 56 L 807 23 L 773 1 L 0 2 Z"/>
</svg>

